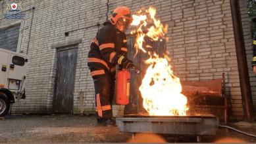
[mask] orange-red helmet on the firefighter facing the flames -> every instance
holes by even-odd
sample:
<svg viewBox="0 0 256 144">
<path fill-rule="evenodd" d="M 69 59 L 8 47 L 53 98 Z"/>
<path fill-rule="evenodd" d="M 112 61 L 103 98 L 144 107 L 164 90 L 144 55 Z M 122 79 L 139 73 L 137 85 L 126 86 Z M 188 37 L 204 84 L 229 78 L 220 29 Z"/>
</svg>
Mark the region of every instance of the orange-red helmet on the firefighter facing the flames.
<svg viewBox="0 0 256 144">
<path fill-rule="evenodd" d="M 116 9 L 111 14 L 110 21 L 113 25 L 116 24 L 118 20 L 124 20 L 124 22 L 131 24 L 132 23 L 132 14 L 128 7 L 116 7 Z"/>
</svg>

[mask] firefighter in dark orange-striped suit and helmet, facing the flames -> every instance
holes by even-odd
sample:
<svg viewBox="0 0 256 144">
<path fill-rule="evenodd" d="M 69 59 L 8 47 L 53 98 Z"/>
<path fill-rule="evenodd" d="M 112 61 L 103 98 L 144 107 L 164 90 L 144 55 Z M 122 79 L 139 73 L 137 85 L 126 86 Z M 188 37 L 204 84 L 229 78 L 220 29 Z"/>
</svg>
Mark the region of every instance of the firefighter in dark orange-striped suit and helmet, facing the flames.
<svg viewBox="0 0 256 144">
<path fill-rule="evenodd" d="M 116 65 L 123 69 L 137 69 L 127 58 L 126 34 L 132 23 L 127 7 L 117 7 L 111 18 L 103 23 L 90 46 L 88 67 L 95 88 L 95 106 L 98 124 L 115 126 L 112 119 L 112 100 L 115 91 Z"/>
</svg>

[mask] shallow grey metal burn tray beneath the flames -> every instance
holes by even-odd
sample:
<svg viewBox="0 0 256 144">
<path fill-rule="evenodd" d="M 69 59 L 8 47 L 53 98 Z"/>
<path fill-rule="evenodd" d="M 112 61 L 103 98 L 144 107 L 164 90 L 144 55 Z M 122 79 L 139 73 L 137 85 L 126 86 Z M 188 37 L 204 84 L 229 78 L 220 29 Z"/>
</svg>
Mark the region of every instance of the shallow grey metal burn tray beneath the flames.
<svg viewBox="0 0 256 144">
<path fill-rule="evenodd" d="M 218 129 L 218 118 L 214 115 L 122 115 L 122 117 L 116 117 L 116 124 L 120 132 L 215 135 Z"/>
</svg>

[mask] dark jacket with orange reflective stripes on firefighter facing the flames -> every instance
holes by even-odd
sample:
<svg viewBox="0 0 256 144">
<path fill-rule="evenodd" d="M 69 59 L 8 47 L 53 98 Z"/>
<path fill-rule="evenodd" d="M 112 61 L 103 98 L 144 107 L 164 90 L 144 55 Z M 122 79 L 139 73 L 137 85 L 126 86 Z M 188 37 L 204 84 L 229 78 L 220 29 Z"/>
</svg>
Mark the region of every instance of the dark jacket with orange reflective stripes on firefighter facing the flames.
<svg viewBox="0 0 256 144">
<path fill-rule="evenodd" d="M 88 67 L 95 71 L 105 69 L 113 72 L 120 54 L 127 56 L 126 34 L 107 21 L 91 42 Z"/>
</svg>

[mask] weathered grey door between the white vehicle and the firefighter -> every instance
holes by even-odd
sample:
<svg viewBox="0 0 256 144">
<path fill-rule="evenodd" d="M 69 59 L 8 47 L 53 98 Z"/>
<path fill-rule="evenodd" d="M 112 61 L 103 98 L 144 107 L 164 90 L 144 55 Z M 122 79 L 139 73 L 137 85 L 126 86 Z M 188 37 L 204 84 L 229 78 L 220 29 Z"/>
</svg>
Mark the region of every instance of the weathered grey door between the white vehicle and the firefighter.
<svg viewBox="0 0 256 144">
<path fill-rule="evenodd" d="M 77 48 L 65 48 L 57 52 L 57 73 L 53 98 L 53 110 L 55 113 L 72 114 L 76 60 Z"/>
</svg>

